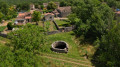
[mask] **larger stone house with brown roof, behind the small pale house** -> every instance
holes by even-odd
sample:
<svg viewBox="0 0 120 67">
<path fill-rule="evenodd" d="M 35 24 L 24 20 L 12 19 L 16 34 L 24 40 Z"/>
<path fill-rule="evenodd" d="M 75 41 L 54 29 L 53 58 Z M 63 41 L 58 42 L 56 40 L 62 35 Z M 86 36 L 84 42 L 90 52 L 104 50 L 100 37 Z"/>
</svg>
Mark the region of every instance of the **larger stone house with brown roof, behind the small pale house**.
<svg viewBox="0 0 120 67">
<path fill-rule="evenodd" d="M 55 17 L 67 17 L 70 13 L 71 13 L 71 6 L 59 7 L 58 9 L 53 11 Z"/>
</svg>

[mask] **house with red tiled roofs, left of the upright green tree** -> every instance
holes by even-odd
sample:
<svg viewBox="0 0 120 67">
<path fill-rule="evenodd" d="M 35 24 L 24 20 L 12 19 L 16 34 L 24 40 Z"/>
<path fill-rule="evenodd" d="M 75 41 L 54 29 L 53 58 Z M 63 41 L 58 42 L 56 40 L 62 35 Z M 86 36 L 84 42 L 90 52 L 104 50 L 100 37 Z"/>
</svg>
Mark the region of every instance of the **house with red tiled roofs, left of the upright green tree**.
<svg viewBox="0 0 120 67">
<path fill-rule="evenodd" d="M 19 13 L 16 20 L 15 25 L 24 25 L 28 22 L 32 22 L 32 17 L 30 12 Z"/>
</svg>

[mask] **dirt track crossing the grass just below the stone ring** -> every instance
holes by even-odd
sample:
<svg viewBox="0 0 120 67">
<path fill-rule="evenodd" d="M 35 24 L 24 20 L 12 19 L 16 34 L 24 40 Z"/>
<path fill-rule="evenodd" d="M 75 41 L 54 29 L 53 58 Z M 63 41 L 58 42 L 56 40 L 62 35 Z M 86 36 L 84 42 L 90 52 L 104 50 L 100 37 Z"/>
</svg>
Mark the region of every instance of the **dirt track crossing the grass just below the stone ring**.
<svg viewBox="0 0 120 67">
<path fill-rule="evenodd" d="M 57 55 L 55 56 L 55 55 L 46 54 L 46 53 L 42 53 L 41 56 L 44 58 L 59 60 L 62 62 L 72 63 L 75 65 L 80 65 L 80 66 L 84 66 L 84 67 L 92 67 L 90 61 L 88 61 L 87 59 L 85 59 L 85 60 L 73 59 L 73 58 L 68 58 L 68 57 L 64 57 L 64 56 L 57 56 Z"/>
</svg>

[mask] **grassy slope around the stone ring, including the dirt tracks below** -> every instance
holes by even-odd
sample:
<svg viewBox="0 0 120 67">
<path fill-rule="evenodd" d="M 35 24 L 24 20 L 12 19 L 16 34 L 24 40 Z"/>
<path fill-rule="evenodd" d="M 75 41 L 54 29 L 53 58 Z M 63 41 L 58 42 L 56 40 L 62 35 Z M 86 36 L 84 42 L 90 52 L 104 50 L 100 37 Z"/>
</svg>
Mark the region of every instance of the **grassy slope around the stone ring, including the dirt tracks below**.
<svg viewBox="0 0 120 67">
<path fill-rule="evenodd" d="M 43 56 L 53 57 L 53 59 L 43 57 L 46 61 L 46 64 L 48 64 L 48 66 L 51 64 L 54 64 L 54 65 L 57 65 L 58 67 L 59 66 L 60 67 L 61 66 L 62 67 L 70 67 L 70 66 L 71 67 L 74 67 L 74 66 L 79 67 L 75 64 L 63 62 L 58 59 L 63 59 L 65 61 L 67 60 L 67 61 L 76 62 L 76 63 L 80 63 L 80 64 L 84 64 L 84 65 L 91 65 L 89 60 L 86 60 L 84 57 L 82 57 L 80 55 L 79 50 L 78 50 L 78 45 L 74 41 L 73 32 L 48 35 L 48 39 L 46 41 L 47 41 L 47 43 L 42 46 L 41 54 L 43 54 Z M 67 42 L 69 44 L 69 52 L 67 54 L 52 52 L 50 50 L 51 44 L 55 41 Z M 54 59 L 54 58 L 56 58 L 56 59 Z M 78 61 L 78 60 L 80 60 L 80 61 Z M 49 63 L 51 63 L 51 64 L 49 64 Z M 80 67 L 82 67 L 82 66 L 80 66 Z"/>
</svg>

